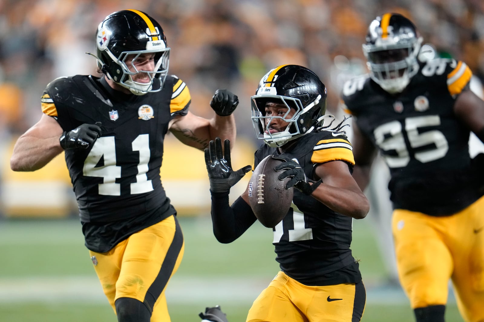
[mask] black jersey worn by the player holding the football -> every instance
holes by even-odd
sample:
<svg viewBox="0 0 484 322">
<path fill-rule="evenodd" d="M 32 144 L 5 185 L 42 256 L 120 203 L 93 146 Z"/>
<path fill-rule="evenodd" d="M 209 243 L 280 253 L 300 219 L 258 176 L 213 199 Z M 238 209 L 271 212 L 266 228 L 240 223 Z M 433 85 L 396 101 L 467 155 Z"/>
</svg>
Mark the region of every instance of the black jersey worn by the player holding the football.
<svg viewBox="0 0 484 322">
<path fill-rule="evenodd" d="M 335 131 L 304 135 L 284 155 L 297 159 L 308 178 L 314 178 L 318 164 L 354 160 L 351 144 Z M 269 154 L 278 154 L 266 144 L 255 153 L 254 165 Z M 358 265 L 350 250 L 352 218 L 294 189 L 293 208 L 273 228 L 276 260 L 282 271 L 306 285 L 332 285 L 361 281 Z"/>
</svg>

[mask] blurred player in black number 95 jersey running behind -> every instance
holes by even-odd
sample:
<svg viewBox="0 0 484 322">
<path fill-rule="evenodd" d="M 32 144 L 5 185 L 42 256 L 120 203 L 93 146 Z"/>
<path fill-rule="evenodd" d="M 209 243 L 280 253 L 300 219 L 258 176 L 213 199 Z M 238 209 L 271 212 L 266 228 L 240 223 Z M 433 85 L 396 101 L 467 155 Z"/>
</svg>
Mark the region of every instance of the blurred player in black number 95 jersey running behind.
<svg viewBox="0 0 484 322">
<path fill-rule="evenodd" d="M 422 37 L 400 14 L 368 28 L 369 75 L 342 91 L 353 117 L 353 177 L 365 189 L 379 151 L 390 169 L 392 230 L 400 283 L 417 322 L 442 322 L 452 279 L 467 322 L 484 321 L 484 101 L 469 89 L 472 72 L 454 59 L 420 62 Z M 378 169 L 375 169 L 378 170 Z"/>
</svg>

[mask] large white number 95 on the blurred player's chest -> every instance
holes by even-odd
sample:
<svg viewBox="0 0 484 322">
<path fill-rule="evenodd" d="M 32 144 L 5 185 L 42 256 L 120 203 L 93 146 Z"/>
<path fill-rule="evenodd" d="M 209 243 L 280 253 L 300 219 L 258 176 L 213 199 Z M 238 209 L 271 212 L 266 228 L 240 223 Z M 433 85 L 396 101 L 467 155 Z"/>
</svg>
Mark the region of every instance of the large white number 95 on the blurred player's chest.
<svg viewBox="0 0 484 322">
<path fill-rule="evenodd" d="M 385 162 L 390 168 L 402 168 L 410 162 L 410 154 L 405 144 L 403 131 L 407 132 L 410 147 L 415 149 L 426 145 L 433 145 L 434 148 L 415 153 L 415 158 L 427 163 L 440 159 L 449 151 L 449 143 L 439 130 L 425 131 L 419 133 L 420 127 L 440 125 L 439 115 L 426 115 L 408 117 L 405 119 L 405 129 L 398 121 L 382 124 L 375 128 L 373 134 L 376 143 L 383 151 L 395 151 L 397 155 L 383 155 Z"/>
</svg>

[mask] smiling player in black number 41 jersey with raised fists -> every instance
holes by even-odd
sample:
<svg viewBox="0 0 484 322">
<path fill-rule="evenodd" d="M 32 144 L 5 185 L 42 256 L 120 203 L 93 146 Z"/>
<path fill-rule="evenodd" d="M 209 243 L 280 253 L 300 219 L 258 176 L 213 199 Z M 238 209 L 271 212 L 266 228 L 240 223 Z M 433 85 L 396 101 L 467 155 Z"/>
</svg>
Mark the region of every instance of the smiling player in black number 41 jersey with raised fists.
<svg viewBox="0 0 484 322">
<path fill-rule="evenodd" d="M 184 242 L 160 180 L 163 141 L 170 131 L 200 150 L 215 137 L 233 142 L 239 101 L 218 90 L 212 119 L 192 114 L 187 85 L 168 75 L 163 29 L 146 13 L 109 14 L 95 44 L 103 77 L 48 84 L 43 115 L 17 140 L 11 168 L 33 171 L 64 152 L 85 244 L 118 321 L 170 321 L 165 289 Z"/>
</svg>

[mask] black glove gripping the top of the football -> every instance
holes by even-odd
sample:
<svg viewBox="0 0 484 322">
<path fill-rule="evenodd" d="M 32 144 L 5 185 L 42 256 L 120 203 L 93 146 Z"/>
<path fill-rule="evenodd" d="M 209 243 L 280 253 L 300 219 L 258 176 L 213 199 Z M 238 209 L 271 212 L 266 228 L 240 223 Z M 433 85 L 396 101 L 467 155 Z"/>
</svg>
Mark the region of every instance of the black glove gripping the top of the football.
<svg viewBox="0 0 484 322">
<path fill-rule="evenodd" d="M 318 185 L 322 182 L 322 180 L 314 182 L 312 180 L 307 179 L 306 174 L 304 173 L 304 170 L 301 168 L 299 163 L 297 163 L 292 159 L 289 159 L 285 155 L 272 155 L 272 158 L 283 161 L 283 163 L 276 166 L 274 170 L 276 171 L 286 170 L 283 173 L 281 173 L 278 178 L 280 180 L 286 179 L 287 177 L 292 178 L 286 183 L 286 189 L 289 189 L 290 187 L 294 187 L 299 191 L 301 191 L 303 194 L 309 196 L 313 193 L 313 191 L 316 190 Z M 314 182 L 314 183 L 311 185 L 308 182 Z"/>
</svg>

